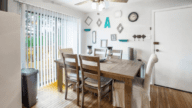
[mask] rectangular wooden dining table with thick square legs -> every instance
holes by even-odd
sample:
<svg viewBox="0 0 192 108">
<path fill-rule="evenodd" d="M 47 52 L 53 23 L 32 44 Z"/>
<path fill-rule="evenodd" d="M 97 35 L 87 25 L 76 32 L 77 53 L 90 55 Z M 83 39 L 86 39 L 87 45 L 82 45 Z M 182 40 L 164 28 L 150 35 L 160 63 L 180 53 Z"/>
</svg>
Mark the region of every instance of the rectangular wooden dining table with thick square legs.
<svg viewBox="0 0 192 108">
<path fill-rule="evenodd" d="M 62 92 L 63 85 L 63 59 L 55 60 L 57 70 L 58 91 Z M 121 59 L 108 59 L 100 62 L 101 76 L 124 82 L 125 108 L 131 108 L 132 81 L 140 71 L 142 62 Z M 80 69 L 80 64 L 79 64 Z"/>
</svg>

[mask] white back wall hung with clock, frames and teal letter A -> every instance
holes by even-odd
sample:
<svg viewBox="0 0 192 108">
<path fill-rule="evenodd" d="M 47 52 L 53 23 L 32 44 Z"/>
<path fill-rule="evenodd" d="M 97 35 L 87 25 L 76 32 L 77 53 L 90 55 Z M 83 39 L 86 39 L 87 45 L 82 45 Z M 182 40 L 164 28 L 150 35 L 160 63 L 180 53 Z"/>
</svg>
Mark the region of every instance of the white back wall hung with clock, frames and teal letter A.
<svg viewBox="0 0 192 108">
<path fill-rule="evenodd" d="M 145 41 L 134 41 L 134 34 L 145 34 L 150 35 L 152 27 L 152 10 L 169 8 L 181 5 L 190 5 L 192 4 L 192 0 L 137 0 L 133 2 L 133 0 L 128 2 L 121 7 L 110 8 L 100 12 L 100 15 L 97 15 L 96 12 L 88 13 L 86 16 L 90 16 L 93 19 L 93 22 L 90 26 L 87 26 L 85 23 L 85 28 L 91 28 L 92 31 L 97 31 L 97 43 L 92 44 L 92 31 L 85 32 L 86 39 L 84 39 L 86 45 L 93 45 L 93 47 L 100 47 L 100 39 L 108 39 L 108 45 L 113 46 L 114 49 L 123 49 L 123 58 L 127 59 L 127 48 L 133 47 L 137 50 L 137 58 L 141 58 L 144 62 L 147 62 L 149 59 L 151 52 L 151 39 L 147 39 Z M 114 13 L 117 10 L 121 10 L 123 12 L 123 16 L 121 18 L 115 18 Z M 130 22 L 128 20 L 128 15 L 131 12 L 137 12 L 139 14 L 139 19 L 136 22 Z M 104 28 L 106 17 L 109 17 L 111 28 Z M 166 16 L 165 16 L 166 17 Z M 98 19 L 101 19 L 102 25 L 100 27 L 97 26 L 96 22 Z M 85 17 L 86 19 L 86 17 Z M 121 23 L 124 27 L 122 33 L 118 33 L 117 26 Z M 117 39 L 128 39 L 129 42 L 119 42 L 119 41 L 111 41 L 110 35 L 117 34 Z M 84 46 L 86 49 L 87 47 Z M 84 52 L 86 53 L 86 52 Z"/>
</svg>

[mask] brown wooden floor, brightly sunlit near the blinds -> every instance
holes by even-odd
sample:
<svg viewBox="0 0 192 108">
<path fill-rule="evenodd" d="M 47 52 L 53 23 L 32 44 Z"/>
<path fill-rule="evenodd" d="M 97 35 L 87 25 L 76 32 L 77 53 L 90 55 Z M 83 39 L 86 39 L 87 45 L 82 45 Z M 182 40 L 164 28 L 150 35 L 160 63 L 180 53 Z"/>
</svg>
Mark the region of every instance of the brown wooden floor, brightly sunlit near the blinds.
<svg viewBox="0 0 192 108">
<path fill-rule="evenodd" d="M 80 98 L 81 102 L 81 98 Z M 64 93 L 57 92 L 56 84 L 38 91 L 38 102 L 32 108 L 79 108 L 76 105 L 76 93 L 70 89 L 68 99 Z M 102 108 L 112 108 L 108 97 L 101 102 Z M 85 94 L 85 108 L 97 108 L 97 96 Z M 151 86 L 151 108 L 192 108 L 192 94 L 174 89 Z"/>
</svg>

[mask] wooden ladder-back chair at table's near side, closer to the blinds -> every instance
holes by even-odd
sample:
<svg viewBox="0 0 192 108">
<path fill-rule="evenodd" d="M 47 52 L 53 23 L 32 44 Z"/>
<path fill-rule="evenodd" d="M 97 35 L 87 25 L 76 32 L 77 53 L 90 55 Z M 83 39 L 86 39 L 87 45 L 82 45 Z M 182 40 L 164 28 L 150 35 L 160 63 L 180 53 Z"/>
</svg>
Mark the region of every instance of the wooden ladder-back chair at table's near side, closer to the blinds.
<svg viewBox="0 0 192 108">
<path fill-rule="evenodd" d="M 79 105 L 79 84 L 81 79 L 81 74 L 79 74 L 78 58 L 76 54 L 63 54 L 63 62 L 65 68 L 65 99 L 67 99 L 68 85 L 69 82 L 76 85 L 77 92 L 77 105 Z M 70 60 L 68 60 L 70 59 Z M 71 61 L 74 62 L 71 62 Z"/>
</svg>

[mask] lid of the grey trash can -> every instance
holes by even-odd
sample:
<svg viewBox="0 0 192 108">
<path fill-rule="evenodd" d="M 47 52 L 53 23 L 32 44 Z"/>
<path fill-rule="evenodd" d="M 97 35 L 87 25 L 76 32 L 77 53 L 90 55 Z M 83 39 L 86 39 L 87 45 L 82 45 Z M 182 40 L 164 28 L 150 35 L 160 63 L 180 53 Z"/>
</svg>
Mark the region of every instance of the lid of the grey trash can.
<svg viewBox="0 0 192 108">
<path fill-rule="evenodd" d="M 23 68 L 21 69 L 21 74 L 24 76 L 30 76 L 33 74 L 37 74 L 38 70 L 34 69 L 34 68 Z"/>
</svg>

